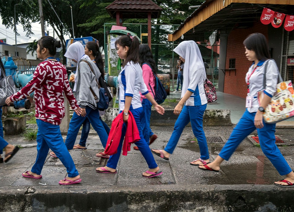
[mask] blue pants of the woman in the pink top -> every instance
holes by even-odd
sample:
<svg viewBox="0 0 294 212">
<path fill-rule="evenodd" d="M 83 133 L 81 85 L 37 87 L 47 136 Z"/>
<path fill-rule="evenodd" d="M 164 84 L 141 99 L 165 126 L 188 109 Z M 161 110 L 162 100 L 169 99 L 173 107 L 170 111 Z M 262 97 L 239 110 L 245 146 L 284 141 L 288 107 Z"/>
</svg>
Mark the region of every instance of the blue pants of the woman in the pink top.
<svg viewBox="0 0 294 212">
<path fill-rule="evenodd" d="M 141 119 L 141 129 L 144 135 L 144 139 L 149 145 L 149 138 L 154 134 L 150 128 L 150 116 L 151 116 L 152 104 L 148 99 L 143 99 L 143 118 Z"/>
</svg>

